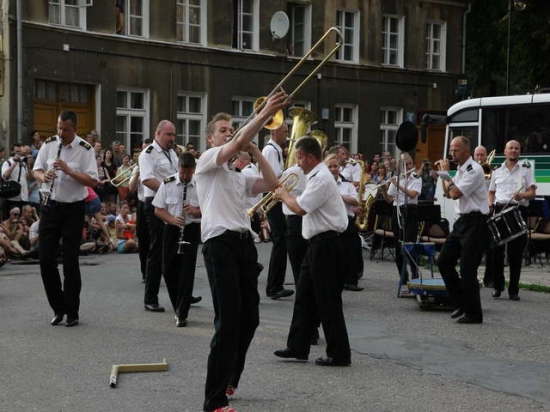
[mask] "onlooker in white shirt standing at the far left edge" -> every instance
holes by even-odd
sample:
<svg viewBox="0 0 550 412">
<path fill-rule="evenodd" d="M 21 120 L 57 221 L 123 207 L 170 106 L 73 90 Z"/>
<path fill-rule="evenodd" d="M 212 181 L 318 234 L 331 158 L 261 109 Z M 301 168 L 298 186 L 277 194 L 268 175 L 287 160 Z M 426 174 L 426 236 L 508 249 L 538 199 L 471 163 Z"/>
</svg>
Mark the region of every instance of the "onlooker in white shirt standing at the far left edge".
<svg viewBox="0 0 550 412">
<path fill-rule="evenodd" d="M 12 146 L 11 157 L 2 165 L 2 178 L 21 185 L 21 193 L 6 199 L 6 210 L 23 207 L 29 200 L 28 181 L 32 178 L 32 171 L 29 168 L 29 158 L 22 155 L 19 143 Z"/>
</svg>

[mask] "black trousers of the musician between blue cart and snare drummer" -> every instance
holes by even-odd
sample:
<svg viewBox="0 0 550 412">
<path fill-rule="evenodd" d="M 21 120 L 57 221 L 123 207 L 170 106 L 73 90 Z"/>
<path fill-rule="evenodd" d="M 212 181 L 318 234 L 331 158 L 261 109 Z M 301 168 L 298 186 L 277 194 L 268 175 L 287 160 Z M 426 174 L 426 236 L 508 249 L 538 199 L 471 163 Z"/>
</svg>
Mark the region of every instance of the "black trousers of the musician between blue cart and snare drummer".
<svg viewBox="0 0 550 412">
<path fill-rule="evenodd" d="M 483 320 L 477 268 L 489 241 L 487 216 L 471 213 L 461 216 L 441 248 L 437 266 L 457 308 L 476 320 Z M 460 275 L 455 266 L 460 259 Z"/>
</svg>

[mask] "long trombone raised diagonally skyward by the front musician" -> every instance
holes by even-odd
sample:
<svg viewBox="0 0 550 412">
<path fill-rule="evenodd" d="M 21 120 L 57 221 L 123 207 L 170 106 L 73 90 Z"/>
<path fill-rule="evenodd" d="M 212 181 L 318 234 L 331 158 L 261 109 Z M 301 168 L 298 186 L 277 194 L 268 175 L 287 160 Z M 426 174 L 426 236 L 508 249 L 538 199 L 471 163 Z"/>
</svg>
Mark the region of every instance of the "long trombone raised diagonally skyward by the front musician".
<svg viewBox="0 0 550 412">
<path fill-rule="evenodd" d="M 334 32 L 337 37 L 336 45 L 327 54 L 327 56 L 311 71 L 311 73 L 294 89 L 294 91 L 288 95 L 287 100 L 291 100 L 292 97 L 294 97 L 294 95 L 321 69 L 321 67 L 325 65 L 325 63 L 338 51 L 338 49 L 342 47 L 342 44 L 344 44 L 344 37 L 342 36 L 342 33 L 337 27 L 331 27 L 330 29 L 328 29 L 325 32 L 325 34 L 323 34 L 323 36 L 321 36 L 321 38 L 317 41 L 317 43 L 315 43 L 313 47 L 298 61 L 298 63 L 296 63 L 296 65 L 288 72 L 288 74 L 285 77 L 283 77 L 283 79 L 273 88 L 273 90 L 271 90 L 271 92 L 269 92 L 267 96 L 260 97 L 256 100 L 252 113 L 250 114 L 250 116 L 248 116 L 245 119 L 245 121 L 241 124 L 241 126 L 238 127 L 237 130 L 235 130 L 233 134 L 227 139 L 228 142 L 234 139 L 238 135 L 238 133 L 243 129 L 243 127 L 245 127 L 252 120 L 252 118 L 254 118 L 264 108 L 264 106 L 267 103 L 267 100 L 271 96 L 273 96 L 279 90 L 282 90 L 283 85 L 288 82 L 288 79 L 302 66 L 302 64 L 304 64 L 304 62 L 313 54 L 313 52 L 321 46 L 321 44 L 332 32 Z M 276 123 L 278 121 L 280 121 L 280 124 L 278 126 L 281 126 L 283 121 L 282 114 L 276 113 L 274 117 L 275 119 L 272 119 L 274 120 L 274 122 L 273 121 L 269 122 L 269 123 L 274 123 L 270 125 L 270 128 L 272 129 L 277 128 Z"/>
</svg>

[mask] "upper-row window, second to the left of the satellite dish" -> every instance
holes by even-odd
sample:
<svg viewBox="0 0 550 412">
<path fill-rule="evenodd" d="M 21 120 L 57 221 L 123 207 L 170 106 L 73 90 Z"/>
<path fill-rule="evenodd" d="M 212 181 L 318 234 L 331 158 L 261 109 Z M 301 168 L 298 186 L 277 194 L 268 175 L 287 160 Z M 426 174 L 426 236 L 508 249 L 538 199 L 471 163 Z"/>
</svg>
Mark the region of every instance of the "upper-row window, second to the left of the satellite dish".
<svg viewBox="0 0 550 412">
<path fill-rule="evenodd" d="M 206 0 L 177 0 L 177 36 L 182 43 L 204 44 Z"/>
</svg>

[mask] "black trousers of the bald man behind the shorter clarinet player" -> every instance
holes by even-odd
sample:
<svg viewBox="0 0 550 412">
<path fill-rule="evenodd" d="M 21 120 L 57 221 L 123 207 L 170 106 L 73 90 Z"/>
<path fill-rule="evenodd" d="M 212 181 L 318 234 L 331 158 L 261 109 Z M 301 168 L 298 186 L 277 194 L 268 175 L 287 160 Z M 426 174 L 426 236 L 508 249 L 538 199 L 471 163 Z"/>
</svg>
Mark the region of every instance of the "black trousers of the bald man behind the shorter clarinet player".
<svg viewBox="0 0 550 412">
<path fill-rule="evenodd" d="M 147 267 L 145 276 L 145 295 L 143 303 L 154 305 L 159 302 L 160 280 L 162 278 L 162 232 L 164 222 L 155 216 L 153 198 L 145 199 L 143 212 L 149 229 L 149 252 L 147 253 Z"/>
</svg>

